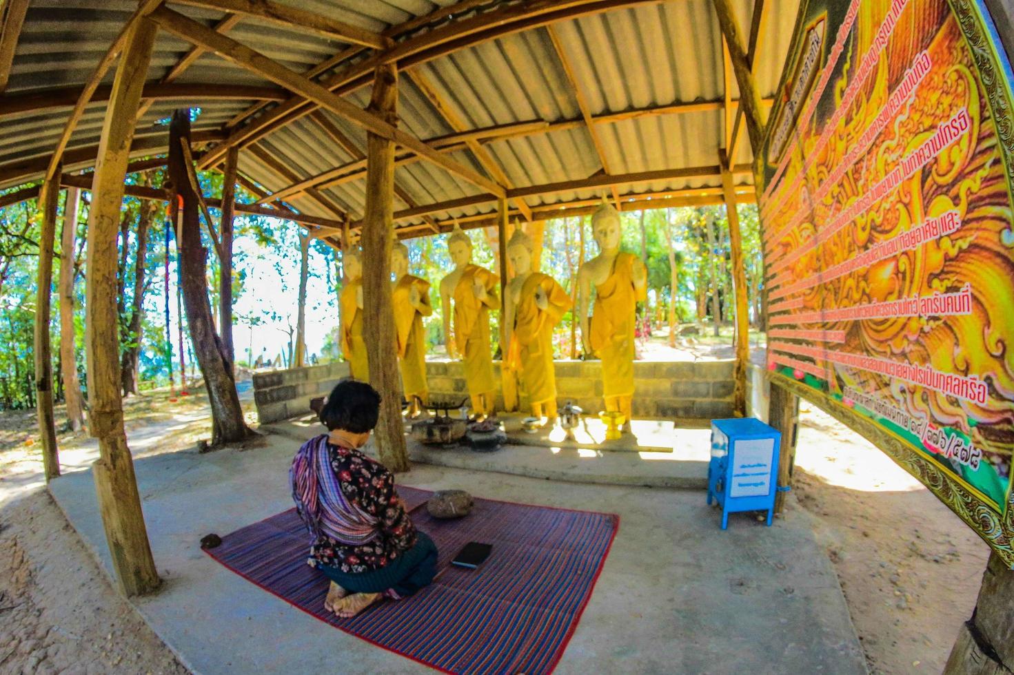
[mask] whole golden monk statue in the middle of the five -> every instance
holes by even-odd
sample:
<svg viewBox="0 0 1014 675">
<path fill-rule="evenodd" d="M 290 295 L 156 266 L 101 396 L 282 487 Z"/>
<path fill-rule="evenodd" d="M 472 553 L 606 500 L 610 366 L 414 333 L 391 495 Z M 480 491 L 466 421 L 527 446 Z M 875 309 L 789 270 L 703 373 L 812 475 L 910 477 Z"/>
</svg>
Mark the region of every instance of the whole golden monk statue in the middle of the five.
<svg viewBox="0 0 1014 675">
<path fill-rule="evenodd" d="M 490 353 L 490 310 L 499 306 L 497 284 L 500 278 L 472 264 L 472 239 L 455 228 L 447 239 L 447 249 L 454 271 L 440 281 L 447 356 L 464 361 L 464 381 L 472 397 L 472 413 L 477 420 L 493 415 L 496 380 Z M 453 301 L 454 332 L 450 329 Z M 453 335 L 453 336 L 452 336 Z"/>
</svg>

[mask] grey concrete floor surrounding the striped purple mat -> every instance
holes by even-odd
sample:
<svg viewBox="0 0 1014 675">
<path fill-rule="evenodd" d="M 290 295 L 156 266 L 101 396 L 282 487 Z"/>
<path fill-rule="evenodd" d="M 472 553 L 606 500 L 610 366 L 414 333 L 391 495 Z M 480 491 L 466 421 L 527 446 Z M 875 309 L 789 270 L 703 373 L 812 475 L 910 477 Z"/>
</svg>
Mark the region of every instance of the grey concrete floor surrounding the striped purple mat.
<svg viewBox="0 0 1014 675">
<path fill-rule="evenodd" d="M 164 587 L 135 601 L 199 673 L 411 673 L 428 669 L 348 635 L 232 574 L 199 546 L 291 506 L 295 442 L 136 462 Z M 700 491 L 557 482 L 417 466 L 400 482 L 531 504 L 611 511 L 620 531 L 558 673 L 865 673 L 829 560 L 790 500 L 771 528 L 744 514 L 719 529 Z M 110 571 L 90 470 L 50 483 Z M 410 600 L 411 602 L 411 600 Z"/>
</svg>

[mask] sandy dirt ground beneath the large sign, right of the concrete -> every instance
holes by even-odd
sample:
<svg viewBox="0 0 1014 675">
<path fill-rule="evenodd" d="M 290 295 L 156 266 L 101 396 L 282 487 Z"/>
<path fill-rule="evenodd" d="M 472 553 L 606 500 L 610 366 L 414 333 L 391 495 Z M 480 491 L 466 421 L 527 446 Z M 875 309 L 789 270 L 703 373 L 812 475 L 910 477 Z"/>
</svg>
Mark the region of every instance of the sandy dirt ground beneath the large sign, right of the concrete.
<svg viewBox="0 0 1014 675">
<path fill-rule="evenodd" d="M 803 403 L 794 491 L 819 523 L 872 673 L 939 673 L 989 547 L 885 454 Z"/>
</svg>

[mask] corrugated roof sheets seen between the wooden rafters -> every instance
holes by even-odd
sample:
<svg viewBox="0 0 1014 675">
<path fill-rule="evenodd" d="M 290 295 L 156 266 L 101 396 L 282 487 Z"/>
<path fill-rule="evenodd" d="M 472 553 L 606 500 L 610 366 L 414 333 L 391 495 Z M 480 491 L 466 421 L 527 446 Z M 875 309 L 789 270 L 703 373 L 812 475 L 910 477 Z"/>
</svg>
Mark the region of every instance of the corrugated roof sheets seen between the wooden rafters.
<svg viewBox="0 0 1014 675">
<path fill-rule="evenodd" d="M 441 6 L 428 0 L 286 0 L 302 9 L 327 14 L 357 26 L 380 31 Z M 470 6 L 478 3 L 469 2 Z M 479 11 L 497 11 L 513 2 L 491 0 Z M 751 0 L 733 0 L 742 31 L 748 32 Z M 760 35 L 756 80 L 762 96 L 774 95 L 795 21 L 798 0 L 768 0 L 767 18 Z M 61 86 L 81 86 L 108 45 L 136 8 L 130 0 L 32 0 L 18 41 L 10 83 L 0 96 L 24 95 Z M 172 5 L 172 8 L 214 25 L 221 11 Z M 460 20 L 470 14 L 447 20 Z M 426 30 L 421 28 L 420 30 Z M 576 19 L 558 21 L 553 30 L 570 62 L 573 76 L 584 92 L 593 117 L 674 103 L 719 101 L 724 95 L 721 38 L 710 0 L 668 0 L 613 9 Z M 342 52 L 347 45 L 292 27 L 268 24 L 244 17 L 228 35 L 297 72 L 306 72 Z M 161 80 L 191 46 L 159 32 L 148 80 Z M 364 55 L 354 57 L 355 60 Z M 319 78 L 346 67 L 339 65 Z M 422 78 L 459 121 L 455 129 L 437 109 L 426 91 L 414 81 Z M 105 78 L 112 82 L 113 72 Z M 204 54 L 175 82 L 207 85 L 272 86 L 264 78 Z M 732 83 L 732 96 L 738 96 Z M 369 90 L 346 95 L 365 106 Z M 202 114 L 196 130 L 225 130 L 229 120 L 256 103 L 240 99 L 157 100 L 138 125 L 138 134 L 164 133 L 155 123 L 183 105 L 195 105 Z M 272 103 L 273 104 L 273 103 Z M 3 165 L 52 152 L 70 107 L 11 116 L 0 121 L 0 169 Z M 105 103 L 89 105 L 71 139 L 71 148 L 98 142 Z M 502 35 L 450 52 L 414 66 L 400 78 L 400 127 L 424 140 L 497 125 L 545 121 L 561 123 L 581 119 L 575 88 L 566 73 L 550 29 L 540 25 Z M 361 151 L 365 134 L 345 120 L 322 115 Z M 602 155 L 610 173 L 634 173 L 717 164 L 718 148 L 724 144 L 724 114 L 717 106 L 696 111 L 668 113 L 595 124 Z M 227 131 L 227 130 L 226 130 Z M 740 131 L 737 163 L 750 158 L 745 129 Z M 271 192 L 295 180 L 315 176 L 353 161 L 336 145 L 319 124 L 303 117 L 258 141 L 258 146 L 277 157 L 287 175 L 264 165 L 250 152 L 240 152 L 240 170 Z M 583 124 L 540 131 L 526 136 L 488 139 L 483 142 L 513 188 L 588 178 L 602 171 L 592 136 Z M 149 151 L 150 152 L 150 151 Z M 449 157 L 480 173 L 489 173 L 469 150 L 450 152 Z M 68 167 L 79 168 L 79 167 Z M 2 176 L 0 171 L 0 176 Z M 38 173 L 21 176 L 38 178 Z M 739 174 L 736 181 L 749 176 Z M 400 165 L 395 179 L 406 196 L 395 208 L 440 204 L 481 195 L 482 189 L 426 161 Z M 0 182 L 0 188 L 11 181 Z M 714 188 L 719 176 L 672 178 L 619 188 L 622 194 L 649 194 L 684 189 Z M 363 213 L 364 180 L 343 181 L 321 189 L 324 198 Z M 529 207 L 594 199 L 608 189 L 557 192 L 525 198 Z M 334 217 L 316 200 L 290 197 L 286 202 L 307 213 Z M 495 204 L 477 204 L 434 213 L 438 219 L 466 218 L 492 212 Z M 421 222 L 421 219 L 405 222 Z"/>
</svg>

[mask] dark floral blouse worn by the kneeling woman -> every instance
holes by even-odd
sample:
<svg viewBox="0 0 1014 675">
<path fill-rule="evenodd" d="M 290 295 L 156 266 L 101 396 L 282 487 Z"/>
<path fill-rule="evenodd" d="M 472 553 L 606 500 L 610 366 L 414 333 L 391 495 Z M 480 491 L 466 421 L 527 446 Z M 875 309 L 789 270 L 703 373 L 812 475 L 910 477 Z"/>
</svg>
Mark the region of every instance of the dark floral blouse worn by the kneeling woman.
<svg viewBox="0 0 1014 675">
<path fill-rule="evenodd" d="M 342 494 L 356 507 L 377 518 L 378 536 L 349 546 L 321 534 L 310 545 L 312 567 L 325 565 L 345 574 L 378 570 L 416 545 L 416 528 L 394 491 L 394 476 L 358 450 L 328 444 L 331 466 Z"/>
</svg>

